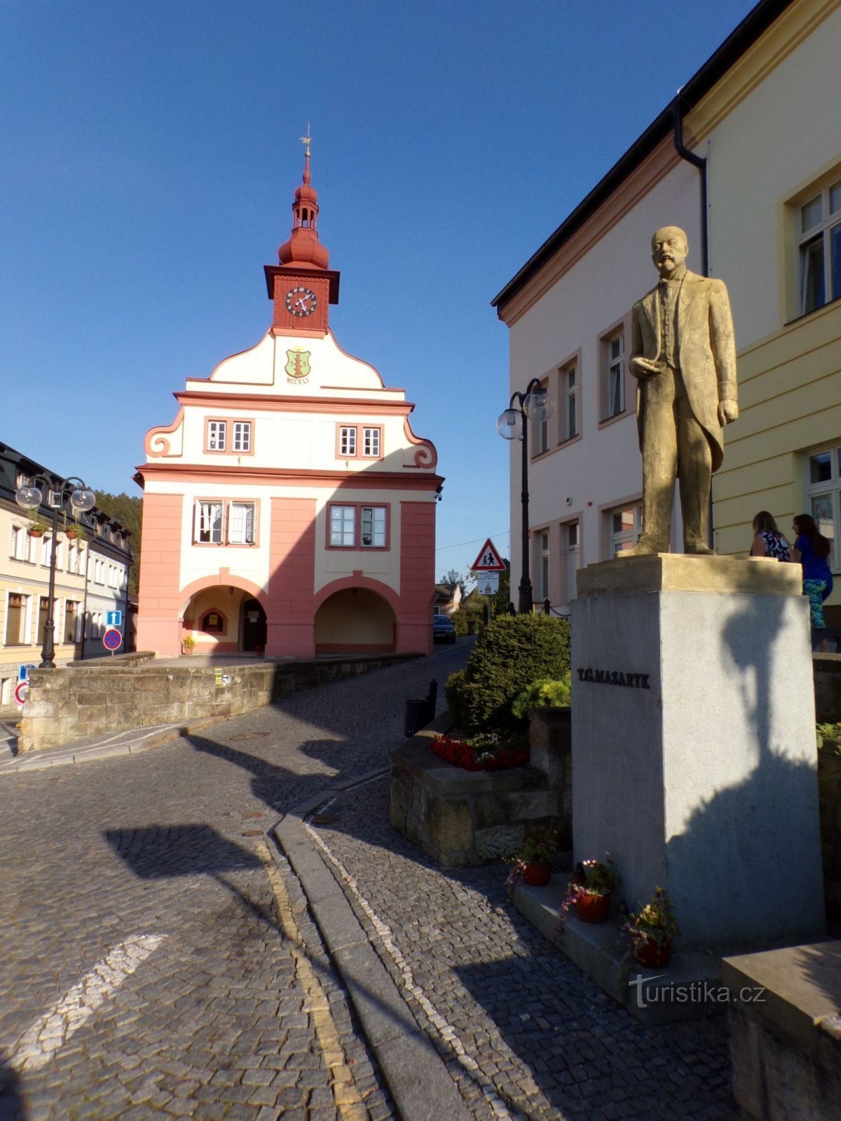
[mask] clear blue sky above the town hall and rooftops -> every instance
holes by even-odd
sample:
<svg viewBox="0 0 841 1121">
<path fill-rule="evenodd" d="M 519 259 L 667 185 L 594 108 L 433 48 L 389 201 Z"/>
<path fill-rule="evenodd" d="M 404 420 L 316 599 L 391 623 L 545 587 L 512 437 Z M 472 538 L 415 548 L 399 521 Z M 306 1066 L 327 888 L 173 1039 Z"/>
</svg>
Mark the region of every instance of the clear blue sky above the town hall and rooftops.
<svg viewBox="0 0 841 1121">
<path fill-rule="evenodd" d="M 172 393 L 270 323 L 311 121 L 333 332 L 446 476 L 436 576 L 507 554 L 489 303 L 751 7 L 0 0 L 0 439 L 140 493 Z"/>
</svg>

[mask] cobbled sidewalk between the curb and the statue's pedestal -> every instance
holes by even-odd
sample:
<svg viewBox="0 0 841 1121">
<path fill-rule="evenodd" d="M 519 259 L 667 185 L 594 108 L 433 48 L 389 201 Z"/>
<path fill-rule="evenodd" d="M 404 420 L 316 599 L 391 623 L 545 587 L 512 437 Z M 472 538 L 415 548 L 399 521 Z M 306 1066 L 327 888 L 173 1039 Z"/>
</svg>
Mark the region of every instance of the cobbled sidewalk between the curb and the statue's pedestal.
<svg viewBox="0 0 841 1121">
<path fill-rule="evenodd" d="M 309 831 L 477 1121 L 739 1117 L 726 1017 L 643 1027 L 508 905 L 506 865 L 443 872 L 395 833 L 387 778 L 326 817 Z"/>
</svg>

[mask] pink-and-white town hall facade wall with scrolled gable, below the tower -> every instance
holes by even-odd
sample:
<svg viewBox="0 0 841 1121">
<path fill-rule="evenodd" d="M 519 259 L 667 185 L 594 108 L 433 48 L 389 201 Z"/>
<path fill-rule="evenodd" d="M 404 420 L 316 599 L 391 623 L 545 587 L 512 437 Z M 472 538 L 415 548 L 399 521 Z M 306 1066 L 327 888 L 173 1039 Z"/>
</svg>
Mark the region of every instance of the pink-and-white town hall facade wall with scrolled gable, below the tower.
<svg viewBox="0 0 841 1121">
<path fill-rule="evenodd" d="M 413 406 L 405 396 L 345 354 L 330 333 L 270 332 L 211 378 L 191 379 L 176 395 L 175 421 L 148 433 L 148 461 L 139 469 L 146 492 L 139 646 L 177 654 L 190 632 L 197 650 L 240 648 L 233 623 L 215 636 L 195 629 L 200 609 L 211 601 L 224 609 L 228 594 L 238 603 L 253 596 L 262 605 L 269 656 L 312 657 L 316 643 L 426 651 L 434 584 L 431 499 L 442 480 L 433 446 L 412 433 Z M 232 425 L 242 421 L 251 425 L 250 441 L 238 451 Z M 223 451 L 211 427 L 220 423 L 228 426 Z M 348 429 L 355 447 L 348 444 Z M 366 446 L 371 432 L 377 444 Z M 234 501 L 255 503 L 253 540 L 232 544 L 224 530 L 219 540 L 200 540 L 207 534 L 197 529 L 198 504 L 221 503 L 228 517 Z M 405 503 L 426 508 L 415 521 L 429 540 L 408 569 L 414 576 L 422 567 L 428 585 L 423 633 L 414 621 L 417 595 L 403 586 Z M 331 543 L 333 504 L 355 511 L 352 546 Z M 361 508 L 369 506 L 387 511 L 382 547 L 361 544 Z M 323 611 L 316 634 L 316 612 L 349 587 L 379 597 L 381 618 L 392 620 L 387 642 L 383 627 L 371 633 L 353 596 L 339 595 Z"/>
</svg>

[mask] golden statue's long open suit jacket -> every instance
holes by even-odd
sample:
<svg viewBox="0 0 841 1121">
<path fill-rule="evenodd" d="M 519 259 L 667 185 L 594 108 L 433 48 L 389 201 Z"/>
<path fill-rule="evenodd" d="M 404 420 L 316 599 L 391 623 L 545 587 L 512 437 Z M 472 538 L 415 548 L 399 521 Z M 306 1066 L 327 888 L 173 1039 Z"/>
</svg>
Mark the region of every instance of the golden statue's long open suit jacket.
<svg viewBox="0 0 841 1121">
<path fill-rule="evenodd" d="M 656 361 L 660 352 L 660 313 L 657 288 L 634 305 L 631 358 Z M 693 416 L 705 430 L 712 448 L 712 470 L 723 456 L 723 432 L 718 406 L 736 400 L 736 337 L 730 299 L 723 280 L 686 271 L 677 297 L 677 361 Z M 646 386 L 657 374 L 637 382 L 639 446 L 645 432 Z"/>
</svg>

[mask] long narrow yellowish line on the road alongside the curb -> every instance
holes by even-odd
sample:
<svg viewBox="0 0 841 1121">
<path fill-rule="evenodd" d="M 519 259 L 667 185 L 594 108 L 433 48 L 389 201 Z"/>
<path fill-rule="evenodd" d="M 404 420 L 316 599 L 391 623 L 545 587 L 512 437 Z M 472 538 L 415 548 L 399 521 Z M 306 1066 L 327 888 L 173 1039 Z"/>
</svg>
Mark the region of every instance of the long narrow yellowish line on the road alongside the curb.
<svg viewBox="0 0 841 1121">
<path fill-rule="evenodd" d="M 318 1046 L 324 1055 L 324 1062 L 330 1067 L 331 1088 L 339 1118 L 341 1121 L 367 1121 L 368 1110 L 353 1083 L 353 1075 L 339 1039 L 335 1020 L 330 1012 L 330 1002 L 309 963 L 304 939 L 301 937 L 301 930 L 298 930 L 295 916 L 292 912 L 286 884 L 265 841 L 258 841 L 255 847 L 257 855 L 266 867 L 271 890 L 275 893 L 280 925 L 284 935 L 289 941 L 292 955 L 295 958 L 295 973 L 306 993 L 304 1011 L 309 1012 L 313 1018 Z"/>
</svg>

